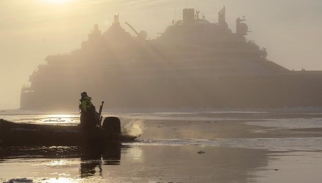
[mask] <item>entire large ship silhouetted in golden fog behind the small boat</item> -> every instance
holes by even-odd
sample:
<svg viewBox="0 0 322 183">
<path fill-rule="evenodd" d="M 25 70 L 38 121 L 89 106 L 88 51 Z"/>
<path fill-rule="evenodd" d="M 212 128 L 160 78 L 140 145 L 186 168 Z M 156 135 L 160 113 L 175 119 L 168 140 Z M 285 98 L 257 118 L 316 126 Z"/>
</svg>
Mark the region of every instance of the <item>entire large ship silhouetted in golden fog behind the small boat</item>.
<svg viewBox="0 0 322 183">
<path fill-rule="evenodd" d="M 107 108 L 277 108 L 322 106 L 321 72 L 290 71 L 267 59 L 267 51 L 245 36 L 245 17 L 236 33 L 225 20 L 210 23 L 200 11 L 183 9 L 156 39 L 126 32 L 114 15 L 103 34 L 98 25 L 81 48 L 50 55 L 21 91 L 21 108 L 72 110 L 79 93 Z"/>
</svg>

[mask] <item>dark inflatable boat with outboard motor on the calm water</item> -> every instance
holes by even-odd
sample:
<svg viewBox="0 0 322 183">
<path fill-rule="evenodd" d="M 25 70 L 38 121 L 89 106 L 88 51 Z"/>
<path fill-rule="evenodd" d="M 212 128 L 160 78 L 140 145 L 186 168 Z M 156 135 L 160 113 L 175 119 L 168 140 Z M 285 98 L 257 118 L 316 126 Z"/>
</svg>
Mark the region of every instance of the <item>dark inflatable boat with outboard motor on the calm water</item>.
<svg viewBox="0 0 322 183">
<path fill-rule="evenodd" d="M 120 120 L 107 117 L 102 127 L 42 125 L 16 123 L 0 119 L 2 145 L 81 145 L 134 140 L 135 136 L 121 133 Z"/>
</svg>

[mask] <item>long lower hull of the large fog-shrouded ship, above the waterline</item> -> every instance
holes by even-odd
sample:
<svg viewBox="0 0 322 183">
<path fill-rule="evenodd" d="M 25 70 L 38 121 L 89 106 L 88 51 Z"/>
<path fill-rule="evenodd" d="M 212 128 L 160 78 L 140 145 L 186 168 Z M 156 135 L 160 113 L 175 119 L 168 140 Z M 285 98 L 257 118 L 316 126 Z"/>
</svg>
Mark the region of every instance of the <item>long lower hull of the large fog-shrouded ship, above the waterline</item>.
<svg viewBox="0 0 322 183">
<path fill-rule="evenodd" d="M 108 84 L 106 84 L 108 83 Z M 220 109 L 321 107 L 322 72 L 290 72 L 276 75 L 208 76 L 187 78 L 118 79 L 89 84 L 93 102 L 107 101 L 105 109 Z M 68 85 L 66 85 L 68 86 Z M 48 89 L 51 86 L 46 86 Z M 64 92 L 40 91 L 22 96 L 27 110 L 73 110 L 76 91 L 86 86 L 64 88 Z M 100 88 L 100 90 L 90 90 Z M 60 99 L 55 95 L 64 96 Z M 31 99 L 34 97 L 34 99 Z M 32 102 L 33 101 L 33 102 Z M 47 102 L 39 102 L 47 101 Z M 77 107 L 77 106 L 76 106 Z"/>
</svg>

